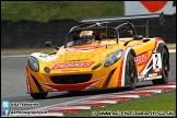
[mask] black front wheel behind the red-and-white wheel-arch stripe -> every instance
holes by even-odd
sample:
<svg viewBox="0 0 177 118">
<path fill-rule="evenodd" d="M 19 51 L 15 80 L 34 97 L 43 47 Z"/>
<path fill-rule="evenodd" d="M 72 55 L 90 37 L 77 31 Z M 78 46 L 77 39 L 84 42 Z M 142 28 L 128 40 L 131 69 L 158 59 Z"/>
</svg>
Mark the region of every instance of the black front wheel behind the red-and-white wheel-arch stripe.
<svg viewBox="0 0 177 118">
<path fill-rule="evenodd" d="M 126 61 L 126 74 L 125 74 L 127 90 L 131 91 L 135 88 L 138 82 L 137 64 L 133 56 L 129 52 Z"/>
</svg>

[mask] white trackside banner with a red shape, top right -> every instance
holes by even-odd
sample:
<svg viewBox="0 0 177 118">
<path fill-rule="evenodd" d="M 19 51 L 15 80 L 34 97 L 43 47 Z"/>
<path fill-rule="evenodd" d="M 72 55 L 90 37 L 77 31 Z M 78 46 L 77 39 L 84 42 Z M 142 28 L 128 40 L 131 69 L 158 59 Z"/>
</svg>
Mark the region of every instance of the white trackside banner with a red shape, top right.
<svg viewBox="0 0 177 118">
<path fill-rule="evenodd" d="M 176 1 L 125 1 L 125 15 L 162 13 L 176 14 Z"/>
</svg>

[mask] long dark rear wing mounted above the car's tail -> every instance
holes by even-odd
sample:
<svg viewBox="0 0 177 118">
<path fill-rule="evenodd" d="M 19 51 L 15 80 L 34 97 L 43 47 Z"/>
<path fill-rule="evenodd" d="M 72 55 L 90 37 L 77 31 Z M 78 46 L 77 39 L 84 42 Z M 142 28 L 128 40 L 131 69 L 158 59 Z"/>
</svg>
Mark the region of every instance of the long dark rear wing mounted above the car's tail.
<svg viewBox="0 0 177 118">
<path fill-rule="evenodd" d="M 111 16 L 111 17 L 93 17 L 82 19 L 79 24 L 84 23 L 97 23 L 97 22 L 128 22 L 128 21 L 146 21 L 146 20 L 160 20 L 160 24 L 164 23 L 164 13 L 153 14 L 139 14 L 139 15 L 123 15 L 123 16 Z"/>
</svg>

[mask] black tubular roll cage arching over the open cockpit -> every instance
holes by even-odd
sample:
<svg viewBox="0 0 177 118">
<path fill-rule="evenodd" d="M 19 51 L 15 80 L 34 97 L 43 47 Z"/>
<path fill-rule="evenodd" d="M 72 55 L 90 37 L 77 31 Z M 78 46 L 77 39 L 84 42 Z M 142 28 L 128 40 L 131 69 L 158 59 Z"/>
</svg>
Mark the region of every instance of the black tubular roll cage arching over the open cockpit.
<svg viewBox="0 0 177 118">
<path fill-rule="evenodd" d="M 117 44 L 118 44 L 119 36 L 129 30 L 132 31 L 132 35 L 137 35 L 135 28 L 130 22 L 122 23 L 116 27 L 108 26 L 108 24 L 109 23 L 106 23 L 106 26 L 105 26 L 105 23 L 93 23 L 87 26 L 83 26 L 83 25 L 73 26 L 66 36 L 67 39 L 64 43 L 64 47 L 67 47 L 67 43 L 69 40 L 70 34 L 76 33 L 79 35 L 79 33 L 81 33 L 82 31 L 93 31 L 95 33 L 96 37 L 98 37 L 97 34 L 99 34 L 101 32 L 104 31 L 106 33 L 106 35 L 102 36 L 102 37 L 114 38 L 114 39 L 116 38 Z M 125 27 L 125 28 L 122 31 L 119 31 L 119 28 L 121 28 L 121 27 Z M 110 32 L 111 32 L 111 34 L 110 34 Z M 96 38 L 96 39 L 99 40 L 98 38 Z"/>
</svg>

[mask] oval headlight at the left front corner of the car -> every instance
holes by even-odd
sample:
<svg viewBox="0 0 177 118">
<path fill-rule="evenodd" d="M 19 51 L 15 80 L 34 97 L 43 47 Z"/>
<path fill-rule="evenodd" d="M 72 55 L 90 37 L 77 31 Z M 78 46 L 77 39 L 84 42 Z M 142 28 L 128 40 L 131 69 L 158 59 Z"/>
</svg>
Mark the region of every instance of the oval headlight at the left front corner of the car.
<svg viewBox="0 0 177 118">
<path fill-rule="evenodd" d="M 39 64 L 38 64 L 38 60 L 35 57 L 30 56 L 27 60 L 27 64 L 33 71 L 38 72 Z"/>
</svg>

